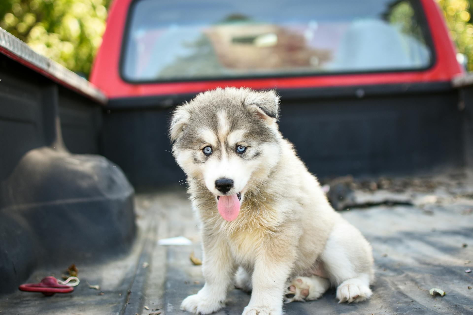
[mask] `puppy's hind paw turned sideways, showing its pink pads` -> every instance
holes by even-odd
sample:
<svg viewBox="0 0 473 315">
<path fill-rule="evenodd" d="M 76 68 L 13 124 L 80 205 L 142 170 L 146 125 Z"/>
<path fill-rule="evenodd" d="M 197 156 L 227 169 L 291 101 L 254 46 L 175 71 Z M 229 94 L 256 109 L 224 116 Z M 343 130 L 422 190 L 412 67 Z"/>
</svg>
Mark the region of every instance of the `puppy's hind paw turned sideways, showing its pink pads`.
<svg viewBox="0 0 473 315">
<path fill-rule="evenodd" d="M 330 282 L 319 276 L 294 278 L 285 293 L 286 303 L 315 300 L 320 298 L 329 286 Z"/>
</svg>

